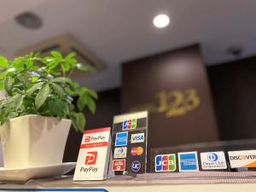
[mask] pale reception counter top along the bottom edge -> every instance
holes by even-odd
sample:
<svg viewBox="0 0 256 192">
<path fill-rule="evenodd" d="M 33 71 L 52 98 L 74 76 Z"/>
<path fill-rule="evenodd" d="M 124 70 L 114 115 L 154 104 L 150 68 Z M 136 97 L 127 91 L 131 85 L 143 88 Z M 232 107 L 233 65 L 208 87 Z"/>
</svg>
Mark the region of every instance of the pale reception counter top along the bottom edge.
<svg viewBox="0 0 256 192">
<path fill-rule="evenodd" d="M 25 184 L 2 183 L 0 191 L 256 191 L 255 172 L 149 173 L 113 177 L 106 181 L 73 182 L 73 177 L 31 180 Z"/>
</svg>

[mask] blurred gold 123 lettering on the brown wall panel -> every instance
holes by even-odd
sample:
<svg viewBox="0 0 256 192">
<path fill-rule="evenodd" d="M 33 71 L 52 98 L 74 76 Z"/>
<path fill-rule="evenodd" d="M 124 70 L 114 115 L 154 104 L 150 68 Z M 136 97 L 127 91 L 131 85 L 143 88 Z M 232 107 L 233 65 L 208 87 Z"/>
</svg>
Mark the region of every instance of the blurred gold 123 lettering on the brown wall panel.
<svg viewBox="0 0 256 192">
<path fill-rule="evenodd" d="M 156 93 L 156 103 L 148 103 L 131 108 L 131 112 L 148 110 L 151 113 L 165 113 L 166 117 L 176 117 L 193 111 L 200 106 L 200 98 L 195 89 L 161 90 Z"/>
</svg>

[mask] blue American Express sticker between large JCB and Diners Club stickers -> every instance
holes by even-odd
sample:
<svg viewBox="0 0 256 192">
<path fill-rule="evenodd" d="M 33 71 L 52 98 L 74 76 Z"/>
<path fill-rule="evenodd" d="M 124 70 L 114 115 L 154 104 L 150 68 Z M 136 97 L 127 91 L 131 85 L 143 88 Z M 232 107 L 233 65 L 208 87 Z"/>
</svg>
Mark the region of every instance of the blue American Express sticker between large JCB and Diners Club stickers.
<svg viewBox="0 0 256 192">
<path fill-rule="evenodd" d="M 199 171 L 197 152 L 178 153 L 179 172 L 197 172 Z"/>
</svg>

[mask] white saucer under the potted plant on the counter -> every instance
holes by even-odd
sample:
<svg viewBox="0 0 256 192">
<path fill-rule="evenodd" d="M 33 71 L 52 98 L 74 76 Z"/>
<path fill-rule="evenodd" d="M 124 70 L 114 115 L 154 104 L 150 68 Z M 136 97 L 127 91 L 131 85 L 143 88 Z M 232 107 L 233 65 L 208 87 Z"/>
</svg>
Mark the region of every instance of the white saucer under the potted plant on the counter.
<svg viewBox="0 0 256 192">
<path fill-rule="evenodd" d="M 75 168 L 75 162 L 52 166 L 37 166 L 21 169 L 0 167 L 0 181 L 25 182 L 32 178 L 58 177 Z"/>
</svg>

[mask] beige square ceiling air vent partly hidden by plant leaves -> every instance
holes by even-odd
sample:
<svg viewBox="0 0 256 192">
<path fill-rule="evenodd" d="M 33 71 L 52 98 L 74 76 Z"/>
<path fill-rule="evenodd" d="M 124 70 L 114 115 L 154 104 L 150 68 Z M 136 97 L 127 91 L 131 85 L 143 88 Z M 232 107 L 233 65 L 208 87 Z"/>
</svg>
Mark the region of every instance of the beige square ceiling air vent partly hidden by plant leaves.
<svg viewBox="0 0 256 192">
<path fill-rule="evenodd" d="M 17 51 L 16 55 L 26 55 L 31 52 L 40 52 L 42 56 L 49 55 L 50 51 L 57 50 L 60 51 L 62 55 L 67 55 L 70 52 L 76 52 L 77 59 L 80 63 L 86 63 L 90 67 L 91 73 L 101 72 L 106 68 L 106 66 L 96 59 L 95 56 L 91 55 L 87 49 L 79 44 L 69 35 L 63 35 L 56 38 L 50 38 L 39 44 L 34 44 L 32 46 L 26 47 L 25 49 L 20 49 Z M 73 73 L 74 79 L 80 79 L 84 77 L 84 73 L 76 71 Z"/>
</svg>

